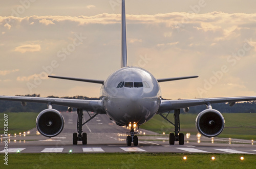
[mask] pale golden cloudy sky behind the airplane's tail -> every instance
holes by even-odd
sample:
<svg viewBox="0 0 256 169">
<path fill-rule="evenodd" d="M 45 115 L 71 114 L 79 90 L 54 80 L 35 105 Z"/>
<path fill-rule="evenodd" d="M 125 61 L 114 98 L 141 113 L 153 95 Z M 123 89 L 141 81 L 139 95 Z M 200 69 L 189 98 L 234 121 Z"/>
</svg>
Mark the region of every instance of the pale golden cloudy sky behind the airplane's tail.
<svg viewBox="0 0 256 169">
<path fill-rule="evenodd" d="M 121 1 L 0 2 L 0 95 L 99 97 L 120 68 Z M 256 2 L 126 1 L 127 63 L 161 82 L 162 97 L 256 96 Z"/>
</svg>

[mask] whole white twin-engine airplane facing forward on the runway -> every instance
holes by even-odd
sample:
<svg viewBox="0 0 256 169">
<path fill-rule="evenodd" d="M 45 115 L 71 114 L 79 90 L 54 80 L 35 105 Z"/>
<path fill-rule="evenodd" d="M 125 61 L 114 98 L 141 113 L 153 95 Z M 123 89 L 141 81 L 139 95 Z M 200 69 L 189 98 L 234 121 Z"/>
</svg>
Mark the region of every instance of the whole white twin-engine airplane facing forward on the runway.
<svg viewBox="0 0 256 169">
<path fill-rule="evenodd" d="M 105 81 L 85 78 L 51 76 L 51 78 L 76 80 L 101 84 L 100 100 L 77 100 L 60 98 L 0 96 L 0 100 L 20 101 L 23 106 L 27 102 L 45 103 L 48 108 L 42 110 L 36 118 L 36 127 L 41 135 L 54 137 L 64 127 L 64 119 L 61 113 L 53 109 L 53 105 L 67 106 L 68 111 L 77 108 L 77 133 L 73 133 L 73 145 L 81 141 L 87 145 L 87 133 L 82 132 L 82 126 L 99 114 L 104 114 L 118 126 L 129 127 L 130 132 L 126 137 L 126 145 L 138 146 L 137 132 L 135 127 L 140 126 L 153 118 L 155 115 L 162 116 L 170 124 L 174 125 L 174 133 L 169 133 L 169 144 L 184 145 L 184 134 L 180 133 L 180 110 L 189 111 L 189 107 L 206 105 L 206 109 L 199 113 L 196 118 L 196 127 L 202 135 L 215 137 L 219 135 L 225 125 L 222 114 L 213 109 L 213 103 L 229 103 L 233 106 L 236 102 L 256 100 L 256 96 L 248 97 L 219 97 L 202 99 L 179 99 L 162 100 L 160 82 L 197 78 L 198 76 L 155 78 L 150 72 L 133 66 L 127 66 L 126 51 L 126 21 L 125 1 L 122 0 L 121 12 L 121 68 L 112 73 Z M 83 110 L 94 112 L 90 119 L 82 123 Z M 167 119 L 170 111 L 174 110 L 174 123 Z M 168 112 L 166 116 L 166 112 Z"/>
</svg>

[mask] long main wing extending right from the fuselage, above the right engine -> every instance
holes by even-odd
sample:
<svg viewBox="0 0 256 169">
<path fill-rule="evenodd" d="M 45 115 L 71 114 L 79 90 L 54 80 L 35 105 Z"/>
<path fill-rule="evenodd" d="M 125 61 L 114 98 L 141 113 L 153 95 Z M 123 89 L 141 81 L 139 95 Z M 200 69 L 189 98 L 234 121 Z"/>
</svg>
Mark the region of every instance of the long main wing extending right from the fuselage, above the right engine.
<svg viewBox="0 0 256 169">
<path fill-rule="evenodd" d="M 233 105 L 239 101 L 256 100 L 256 96 L 248 97 L 218 97 L 218 98 L 204 98 L 204 99 L 184 99 L 184 100 L 162 100 L 158 109 L 158 114 L 175 109 L 181 109 L 197 105 L 208 105 L 212 103 L 230 103 Z"/>
</svg>

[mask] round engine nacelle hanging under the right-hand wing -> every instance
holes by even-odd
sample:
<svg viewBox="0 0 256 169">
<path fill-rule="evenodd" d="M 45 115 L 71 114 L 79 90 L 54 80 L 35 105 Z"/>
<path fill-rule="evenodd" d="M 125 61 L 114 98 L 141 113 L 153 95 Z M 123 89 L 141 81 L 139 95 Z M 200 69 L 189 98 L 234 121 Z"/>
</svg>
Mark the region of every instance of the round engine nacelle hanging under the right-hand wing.
<svg viewBox="0 0 256 169">
<path fill-rule="evenodd" d="M 203 110 L 196 119 L 197 130 L 206 137 L 219 135 L 223 131 L 224 126 L 224 117 L 215 109 Z"/>
</svg>

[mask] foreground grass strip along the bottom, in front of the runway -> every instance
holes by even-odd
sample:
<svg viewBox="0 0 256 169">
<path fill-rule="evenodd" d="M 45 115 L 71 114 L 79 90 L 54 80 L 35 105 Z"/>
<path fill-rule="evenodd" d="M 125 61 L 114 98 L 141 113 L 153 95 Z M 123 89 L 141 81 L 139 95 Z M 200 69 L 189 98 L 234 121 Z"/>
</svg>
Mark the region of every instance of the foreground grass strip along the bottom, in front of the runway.
<svg viewBox="0 0 256 169">
<path fill-rule="evenodd" d="M 187 160 L 183 160 L 186 156 Z M 216 160 L 211 160 L 215 156 Z M 244 160 L 240 160 L 243 156 Z M 8 154 L 10 168 L 255 168 L 256 155 L 181 153 Z M 4 165 L 2 162 L 1 165 Z M 2 168 L 2 167 L 1 167 Z"/>
</svg>

